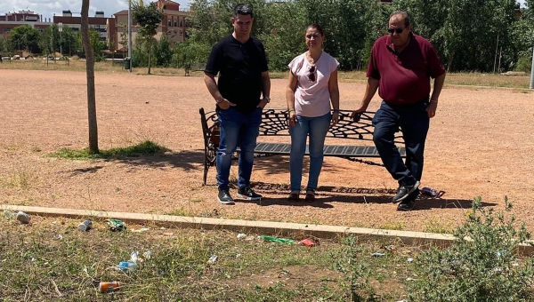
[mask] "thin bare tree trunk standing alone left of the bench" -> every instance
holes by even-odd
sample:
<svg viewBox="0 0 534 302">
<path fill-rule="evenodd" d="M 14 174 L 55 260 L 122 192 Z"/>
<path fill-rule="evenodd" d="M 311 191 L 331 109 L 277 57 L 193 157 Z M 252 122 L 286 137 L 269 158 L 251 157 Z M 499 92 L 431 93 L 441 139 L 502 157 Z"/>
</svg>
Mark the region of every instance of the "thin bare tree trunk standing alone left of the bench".
<svg viewBox="0 0 534 302">
<path fill-rule="evenodd" d="M 96 124 L 96 98 L 94 94 L 94 52 L 89 41 L 89 0 L 82 0 L 82 42 L 85 49 L 85 67 L 87 74 L 87 114 L 89 117 L 89 151 L 98 150 L 98 127 Z"/>
</svg>

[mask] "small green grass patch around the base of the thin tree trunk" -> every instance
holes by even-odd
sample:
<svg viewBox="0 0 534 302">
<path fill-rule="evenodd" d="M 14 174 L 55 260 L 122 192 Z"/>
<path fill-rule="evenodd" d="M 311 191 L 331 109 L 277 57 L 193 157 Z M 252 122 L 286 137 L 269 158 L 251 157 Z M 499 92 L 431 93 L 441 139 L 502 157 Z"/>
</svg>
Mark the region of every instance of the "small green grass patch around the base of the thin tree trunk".
<svg viewBox="0 0 534 302">
<path fill-rule="evenodd" d="M 168 151 L 171 150 L 166 147 L 159 146 L 150 140 L 146 140 L 134 146 L 115 147 L 108 150 L 100 150 L 98 154 L 91 153 L 89 148 L 85 148 L 83 150 L 61 148 L 58 152 L 53 152 L 49 154 L 49 156 L 66 159 L 121 158 L 144 155 L 160 155 Z"/>
</svg>

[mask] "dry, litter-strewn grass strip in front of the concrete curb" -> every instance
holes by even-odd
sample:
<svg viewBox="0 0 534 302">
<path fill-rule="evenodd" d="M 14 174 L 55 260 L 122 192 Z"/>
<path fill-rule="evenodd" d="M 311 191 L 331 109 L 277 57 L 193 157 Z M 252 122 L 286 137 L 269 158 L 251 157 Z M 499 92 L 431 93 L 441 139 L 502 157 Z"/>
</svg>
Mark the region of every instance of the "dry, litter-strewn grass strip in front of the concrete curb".
<svg viewBox="0 0 534 302">
<path fill-rule="evenodd" d="M 264 242 L 256 234 L 150 227 L 143 233 L 110 232 L 100 220 L 94 229 L 77 231 L 83 219 L 33 217 L 35 225 L 0 218 L 0 283 L 5 301 L 59 299 L 77 301 L 346 301 L 343 274 L 333 262 L 344 245 L 322 241 L 318 247 Z M 141 226 L 128 226 L 140 228 Z M 294 238 L 302 239 L 302 238 Z M 401 299 L 399 288 L 387 286 L 388 272 L 400 272 L 404 254 L 386 251 L 373 258 L 376 245 L 364 244 L 359 261 L 376 266 L 376 292 L 383 301 Z M 152 258 L 131 274 L 114 269 L 134 250 L 150 250 Z M 207 259 L 216 255 L 213 264 Z M 336 259 L 333 258 L 336 255 Z M 398 280 L 411 276 L 396 275 Z M 403 274 L 404 274 L 403 273 Z M 100 281 L 118 281 L 115 293 L 98 292 Z"/>
</svg>

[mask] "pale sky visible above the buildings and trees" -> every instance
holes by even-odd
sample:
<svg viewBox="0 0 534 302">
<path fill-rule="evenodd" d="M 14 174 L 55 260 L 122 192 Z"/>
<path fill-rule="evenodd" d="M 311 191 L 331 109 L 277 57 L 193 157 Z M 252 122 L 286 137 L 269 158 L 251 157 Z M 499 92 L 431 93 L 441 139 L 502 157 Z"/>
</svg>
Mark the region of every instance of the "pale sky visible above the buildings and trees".
<svg viewBox="0 0 534 302">
<path fill-rule="evenodd" d="M 145 0 L 145 3 L 148 2 Z M 180 4 L 180 8 L 188 7 L 189 0 L 174 0 Z M 524 6 L 524 0 L 518 1 Z M 89 16 L 94 16 L 94 12 L 103 11 L 106 17 L 111 17 L 115 12 L 120 12 L 128 8 L 126 0 L 90 0 Z M 18 12 L 20 10 L 30 10 L 43 15 L 43 18 L 53 18 L 53 14 L 61 16 L 62 11 L 73 12 L 79 15 L 82 8 L 81 0 L 1 0 L 0 14 L 6 12 Z"/>
</svg>

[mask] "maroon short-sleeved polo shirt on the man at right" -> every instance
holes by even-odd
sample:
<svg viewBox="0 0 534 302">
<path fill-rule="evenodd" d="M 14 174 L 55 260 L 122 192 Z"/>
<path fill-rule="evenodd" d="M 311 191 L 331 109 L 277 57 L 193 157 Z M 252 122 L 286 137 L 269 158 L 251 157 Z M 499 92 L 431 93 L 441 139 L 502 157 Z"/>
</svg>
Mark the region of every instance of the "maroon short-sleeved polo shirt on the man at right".
<svg viewBox="0 0 534 302">
<path fill-rule="evenodd" d="M 395 105 L 413 104 L 430 95 L 430 78 L 445 73 L 433 45 L 410 33 L 409 44 L 395 52 L 390 36 L 373 45 L 367 76 L 379 80 L 378 95 Z"/>
</svg>

